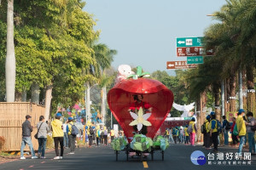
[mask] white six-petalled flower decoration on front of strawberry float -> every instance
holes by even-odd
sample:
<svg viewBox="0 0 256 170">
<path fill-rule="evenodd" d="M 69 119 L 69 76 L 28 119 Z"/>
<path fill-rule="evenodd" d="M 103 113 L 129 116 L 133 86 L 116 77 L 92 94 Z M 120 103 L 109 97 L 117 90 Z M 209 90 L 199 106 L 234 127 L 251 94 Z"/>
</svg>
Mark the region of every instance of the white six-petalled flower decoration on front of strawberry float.
<svg viewBox="0 0 256 170">
<path fill-rule="evenodd" d="M 130 111 L 130 114 L 132 118 L 134 119 L 133 122 L 131 122 L 129 125 L 130 126 L 135 126 L 137 125 L 137 130 L 140 131 L 143 128 L 143 125 L 145 126 L 151 126 L 151 122 L 148 122 L 149 116 L 151 116 L 151 113 L 146 113 L 143 115 L 143 108 L 141 107 L 140 110 L 138 111 L 138 115 L 136 113 L 133 113 Z"/>
</svg>

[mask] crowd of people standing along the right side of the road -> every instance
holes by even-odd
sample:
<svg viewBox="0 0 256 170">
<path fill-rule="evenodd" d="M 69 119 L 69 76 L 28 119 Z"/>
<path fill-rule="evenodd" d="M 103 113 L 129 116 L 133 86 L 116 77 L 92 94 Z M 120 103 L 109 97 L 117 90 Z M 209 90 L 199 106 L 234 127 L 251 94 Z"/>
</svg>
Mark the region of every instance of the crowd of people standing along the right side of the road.
<svg viewBox="0 0 256 170">
<path fill-rule="evenodd" d="M 203 147 L 207 150 L 212 149 L 212 152 L 218 152 L 218 145 L 221 140 L 224 140 L 224 145 L 229 145 L 229 133 L 232 137 L 232 147 L 238 146 L 238 154 L 241 154 L 243 146 L 248 143 L 249 152 L 252 156 L 256 154 L 255 144 L 255 126 L 256 121 L 252 112 L 247 112 L 240 109 L 237 112 L 237 117 L 232 117 L 232 122 L 227 121 L 226 116 L 222 116 L 222 121 L 216 119 L 215 112 L 211 112 L 206 117 L 206 121 L 201 127 L 203 133 Z M 171 144 L 184 143 L 186 145 L 195 145 L 195 135 L 198 129 L 195 124 L 195 118 L 192 117 L 189 125 L 184 127 L 166 128 L 165 136 Z M 236 133 L 235 133 L 236 132 Z"/>
</svg>

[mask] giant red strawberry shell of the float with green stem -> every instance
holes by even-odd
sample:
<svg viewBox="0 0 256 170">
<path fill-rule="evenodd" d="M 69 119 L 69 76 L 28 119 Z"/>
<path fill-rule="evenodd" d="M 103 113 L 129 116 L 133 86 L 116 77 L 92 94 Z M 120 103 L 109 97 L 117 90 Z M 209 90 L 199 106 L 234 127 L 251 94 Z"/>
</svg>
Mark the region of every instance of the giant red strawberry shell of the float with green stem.
<svg viewBox="0 0 256 170">
<path fill-rule="evenodd" d="M 152 107 L 152 113 L 147 118 L 147 121 L 151 123 L 147 129 L 147 136 L 150 138 L 154 138 L 155 133 L 172 109 L 172 91 L 159 81 L 145 78 L 147 75 L 148 73 L 142 72 L 141 67 L 137 67 L 136 75 L 117 83 L 108 92 L 109 108 L 128 139 L 133 136 L 132 132 L 134 131 L 134 128 L 129 125 L 134 122 L 134 117 L 128 110 L 135 102 L 133 99 L 135 94 L 143 94 L 143 102 Z"/>
</svg>

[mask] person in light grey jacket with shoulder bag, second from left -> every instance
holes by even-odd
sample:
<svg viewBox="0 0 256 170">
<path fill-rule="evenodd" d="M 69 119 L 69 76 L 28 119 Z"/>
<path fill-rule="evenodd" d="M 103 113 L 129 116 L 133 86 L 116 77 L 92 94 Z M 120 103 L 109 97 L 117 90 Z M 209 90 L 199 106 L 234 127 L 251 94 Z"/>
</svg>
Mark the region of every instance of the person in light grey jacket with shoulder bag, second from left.
<svg viewBox="0 0 256 170">
<path fill-rule="evenodd" d="M 48 124 L 44 122 L 44 116 L 39 117 L 37 128 L 38 128 L 38 158 L 45 159 L 44 153 L 45 153 L 47 133 L 49 132 L 49 127 L 48 127 Z"/>
</svg>

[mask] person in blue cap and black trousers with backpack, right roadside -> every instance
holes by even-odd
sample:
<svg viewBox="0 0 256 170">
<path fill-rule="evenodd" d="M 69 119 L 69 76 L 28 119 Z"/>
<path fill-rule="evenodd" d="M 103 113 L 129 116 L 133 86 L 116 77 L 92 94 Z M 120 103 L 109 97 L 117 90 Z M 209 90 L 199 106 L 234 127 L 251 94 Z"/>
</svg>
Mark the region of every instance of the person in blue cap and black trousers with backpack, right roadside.
<svg viewBox="0 0 256 170">
<path fill-rule="evenodd" d="M 216 120 L 216 115 L 215 112 L 211 112 L 211 121 L 209 124 L 209 129 L 210 129 L 210 138 L 212 139 L 212 143 L 214 146 L 214 149 L 212 152 L 218 152 L 218 122 Z"/>
</svg>

